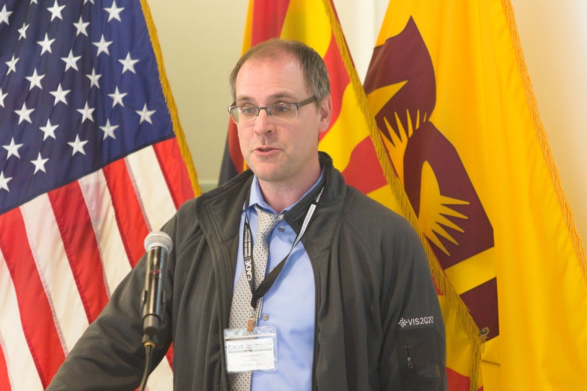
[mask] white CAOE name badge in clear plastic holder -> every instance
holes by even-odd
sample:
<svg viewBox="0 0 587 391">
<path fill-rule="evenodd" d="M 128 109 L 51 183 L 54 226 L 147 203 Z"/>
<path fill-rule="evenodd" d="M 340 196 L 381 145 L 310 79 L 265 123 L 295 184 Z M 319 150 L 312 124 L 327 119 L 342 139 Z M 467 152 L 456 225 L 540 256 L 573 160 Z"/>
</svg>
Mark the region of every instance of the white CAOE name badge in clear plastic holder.
<svg viewBox="0 0 587 391">
<path fill-rule="evenodd" d="M 277 370 L 275 326 L 224 330 L 224 352 L 229 373 Z"/>
</svg>

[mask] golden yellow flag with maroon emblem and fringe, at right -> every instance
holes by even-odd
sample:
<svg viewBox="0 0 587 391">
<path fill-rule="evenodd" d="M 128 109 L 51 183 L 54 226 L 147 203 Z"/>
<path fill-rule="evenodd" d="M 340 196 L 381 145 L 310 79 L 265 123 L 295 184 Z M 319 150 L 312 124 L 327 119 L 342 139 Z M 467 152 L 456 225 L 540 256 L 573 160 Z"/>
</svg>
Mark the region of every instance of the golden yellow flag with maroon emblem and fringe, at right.
<svg viewBox="0 0 587 391">
<path fill-rule="evenodd" d="M 485 391 L 587 389 L 587 262 L 510 1 L 390 1 L 365 90 L 378 154 L 487 332 Z"/>
</svg>

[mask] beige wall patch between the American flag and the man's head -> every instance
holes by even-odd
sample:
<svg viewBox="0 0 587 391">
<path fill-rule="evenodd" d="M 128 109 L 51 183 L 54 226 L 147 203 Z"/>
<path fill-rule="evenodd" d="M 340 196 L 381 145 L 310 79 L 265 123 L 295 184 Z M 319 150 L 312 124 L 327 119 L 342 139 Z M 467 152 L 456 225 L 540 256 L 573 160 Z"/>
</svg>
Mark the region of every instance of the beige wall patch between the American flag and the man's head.
<svg viewBox="0 0 587 391">
<path fill-rule="evenodd" d="M 167 79 L 200 185 L 218 181 L 228 125 L 228 73 L 241 54 L 245 0 L 149 0 Z"/>
</svg>

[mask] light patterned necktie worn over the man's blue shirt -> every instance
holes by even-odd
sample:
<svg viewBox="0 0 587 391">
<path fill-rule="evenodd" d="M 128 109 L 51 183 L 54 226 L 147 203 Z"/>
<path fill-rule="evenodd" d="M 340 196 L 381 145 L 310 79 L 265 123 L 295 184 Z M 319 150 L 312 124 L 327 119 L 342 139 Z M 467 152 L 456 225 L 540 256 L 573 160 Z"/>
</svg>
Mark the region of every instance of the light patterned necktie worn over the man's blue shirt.
<svg viewBox="0 0 587 391">
<path fill-rule="evenodd" d="M 253 246 L 253 261 L 255 263 L 255 289 L 265 278 L 267 268 L 267 257 L 269 256 L 269 243 L 267 237 L 269 233 L 284 219 L 283 215 L 265 212 L 259 206 L 255 205 L 257 210 L 257 237 Z M 251 311 L 251 286 L 247 280 L 245 270 L 242 270 L 238 277 L 237 286 L 234 288 L 232 305 L 230 307 L 230 318 L 228 318 L 228 328 L 246 328 L 247 320 Z M 261 314 L 263 298 L 257 301 L 257 310 L 255 319 Z M 234 391 L 249 391 L 251 389 L 251 372 L 230 373 L 228 376 L 230 389 Z"/>
</svg>

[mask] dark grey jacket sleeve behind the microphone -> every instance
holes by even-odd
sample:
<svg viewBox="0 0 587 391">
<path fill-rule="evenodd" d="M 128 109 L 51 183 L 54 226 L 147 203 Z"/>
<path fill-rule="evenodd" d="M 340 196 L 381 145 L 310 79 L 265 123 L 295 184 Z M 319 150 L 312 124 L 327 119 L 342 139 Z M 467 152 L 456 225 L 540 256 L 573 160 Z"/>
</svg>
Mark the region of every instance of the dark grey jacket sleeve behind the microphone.
<svg viewBox="0 0 587 391">
<path fill-rule="evenodd" d="M 89 325 L 69 352 L 48 387 L 58 390 L 135 390 L 144 370 L 145 351 L 142 344 L 143 324 L 141 294 L 144 290 L 145 259 L 143 258 L 116 288 L 99 317 Z M 171 267 L 167 268 L 167 272 Z M 171 297 L 166 278 L 166 297 Z M 153 365 L 160 362 L 171 344 L 167 316 L 158 334 L 158 345 L 153 352 Z"/>
</svg>

